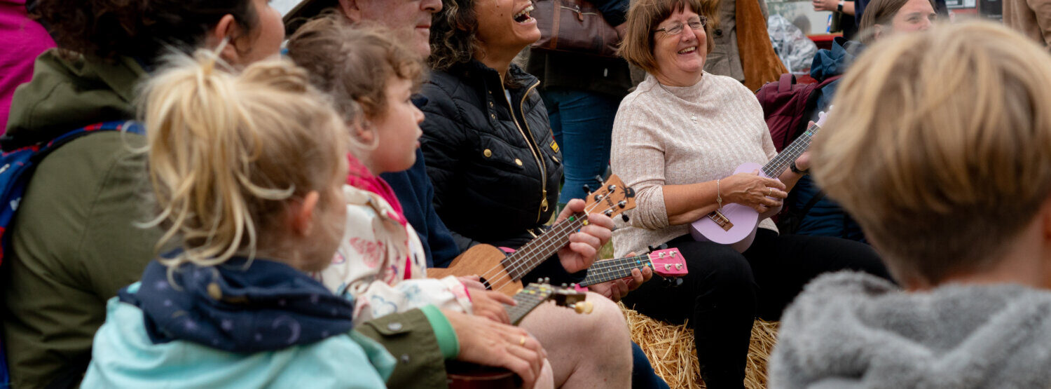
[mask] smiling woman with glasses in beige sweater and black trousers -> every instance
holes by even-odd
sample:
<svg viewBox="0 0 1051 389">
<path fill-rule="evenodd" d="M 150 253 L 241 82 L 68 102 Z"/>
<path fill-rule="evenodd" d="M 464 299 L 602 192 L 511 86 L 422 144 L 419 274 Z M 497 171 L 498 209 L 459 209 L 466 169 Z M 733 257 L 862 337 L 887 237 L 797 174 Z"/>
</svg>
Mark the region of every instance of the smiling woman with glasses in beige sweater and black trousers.
<svg viewBox="0 0 1051 389">
<path fill-rule="evenodd" d="M 810 167 L 804 153 L 778 179 L 733 173 L 777 152 L 748 88 L 703 70 L 713 39 L 701 6 L 700 0 L 641 0 L 628 11 L 621 55 L 647 75 L 614 122 L 613 170 L 635 188 L 636 209 L 613 241 L 618 257 L 662 243 L 679 248 L 689 269 L 683 284 L 646 283 L 624 303 L 655 319 L 688 320 L 708 387 L 740 388 L 757 315 L 779 319 L 803 285 L 826 271 L 889 275 L 865 244 L 780 237 L 769 220 L 744 252 L 691 238 L 691 222 L 726 204 L 776 210 Z"/>
</svg>

